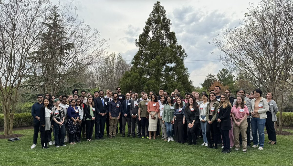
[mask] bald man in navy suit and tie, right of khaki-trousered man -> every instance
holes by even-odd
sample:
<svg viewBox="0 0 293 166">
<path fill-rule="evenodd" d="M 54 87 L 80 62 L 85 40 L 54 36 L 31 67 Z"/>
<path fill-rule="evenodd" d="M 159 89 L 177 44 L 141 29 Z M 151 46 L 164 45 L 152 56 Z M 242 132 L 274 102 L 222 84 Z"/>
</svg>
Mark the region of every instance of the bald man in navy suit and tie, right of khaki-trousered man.
<svg viewBox="0 0 293 166">
<path fill-rule="evenodd" d="M 130 117 L 130 105 L 131 105 L 131 100 L 130 100 L 130 94 L 127 93 L 125 95 L 126 100 L 122 102 L 122 137 L 125 137 L 125 126 L 127 122 L 127 128 L 128 128 L 128 134 L 127 137 L 130 137 L 131 134 L 131 117 Z"/>
</svg>

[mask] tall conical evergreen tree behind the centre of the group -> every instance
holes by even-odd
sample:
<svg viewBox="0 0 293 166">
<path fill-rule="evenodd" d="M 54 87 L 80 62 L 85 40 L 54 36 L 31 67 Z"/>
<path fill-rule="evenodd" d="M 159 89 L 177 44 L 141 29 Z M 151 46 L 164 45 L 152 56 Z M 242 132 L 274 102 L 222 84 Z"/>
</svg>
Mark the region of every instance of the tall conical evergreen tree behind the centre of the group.
<svg viewBox="0 0 293 166">
<path fill-rule="evenodd" d="M 157 1 L 142 34 L 134 42 L 138 51 L 132 59 L 133 66 L 120 79 L 123 92 L 130 89 L 158 92 L 160 88 L 170 92 L 176 88 L 192 90 L 192 81 L 184 65 L 187 54 L 178 45 L 175 32 L 170 31 L 171 25 L 166 10 Z"/>
</svg>

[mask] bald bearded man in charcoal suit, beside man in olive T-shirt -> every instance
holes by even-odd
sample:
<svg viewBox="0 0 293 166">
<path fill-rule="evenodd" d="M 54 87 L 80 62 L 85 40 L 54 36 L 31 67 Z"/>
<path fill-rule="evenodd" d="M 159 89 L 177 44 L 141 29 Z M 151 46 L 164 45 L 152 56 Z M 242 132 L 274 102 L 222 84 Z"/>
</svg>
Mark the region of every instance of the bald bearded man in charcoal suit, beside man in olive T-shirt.
<svg viewBox="0 0 293 166">
<path fill-rule="evenodd" d="M 138 127 L 138 137 L 141 137 L 141 125 L 140 121 L 138 120 L 138 104 L 141 100 L 138 99 L 138 94 L 134 94 L 134 100 L 131 101 L 129 112 L 131 116 L 131 126 L 132 126 L 132 137 L 135 138 L 135 122 L 137 122 L 137 127 Z M 128 129 L 129 130 L 129 129 Z"/>
</svg>

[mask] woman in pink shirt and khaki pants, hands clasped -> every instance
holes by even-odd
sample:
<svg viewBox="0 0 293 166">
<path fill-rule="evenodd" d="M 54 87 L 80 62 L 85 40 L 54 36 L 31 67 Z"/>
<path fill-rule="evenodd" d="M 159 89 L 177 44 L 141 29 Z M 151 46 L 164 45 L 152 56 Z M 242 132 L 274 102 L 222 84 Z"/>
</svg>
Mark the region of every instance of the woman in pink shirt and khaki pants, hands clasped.
<svg viewBox="0 0 293 166">
<path fill-rule="evenodd" d="M 232 119 L 233 119 L 233 134 L 234 134 L 234 145 L 235 151 L 240 149 L 239 134 L 242 136 L 242 152 L 247 151 L 247 120 L 246 117 L 249 116 L 249 111 L 247 106 L 244 104 L 244 97 L 242 95 L 238 96 L 236 104 L 232 107 Z M 250 139 L 250 138 L 248 138 Z"/>
</svg>

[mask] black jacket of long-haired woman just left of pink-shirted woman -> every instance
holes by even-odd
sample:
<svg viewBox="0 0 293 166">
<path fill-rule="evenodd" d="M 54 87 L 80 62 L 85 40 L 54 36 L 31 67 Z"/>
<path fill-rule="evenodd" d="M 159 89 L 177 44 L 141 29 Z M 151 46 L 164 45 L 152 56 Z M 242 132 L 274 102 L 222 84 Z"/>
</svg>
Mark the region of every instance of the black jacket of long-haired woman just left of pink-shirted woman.
<svg viewBox="0 0 293 166">
<path fill-rule="evenodd" d="M 216 111 L 216 110 L 215 110 Z M 230 113 L 231 113 L 231 107 L 228 105 L 226 108 L 223 108 L 223 106 L 219 107 L 219 113 L 217 112 L 217 118 L 221 120 L 219 123 L 218 121 L 218 127 L 221 127 L 222 130 L 231 130 L 231 121 L 230 121 Z"/>
</svg>

